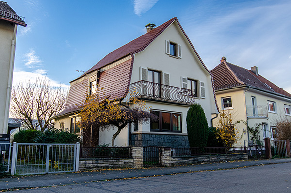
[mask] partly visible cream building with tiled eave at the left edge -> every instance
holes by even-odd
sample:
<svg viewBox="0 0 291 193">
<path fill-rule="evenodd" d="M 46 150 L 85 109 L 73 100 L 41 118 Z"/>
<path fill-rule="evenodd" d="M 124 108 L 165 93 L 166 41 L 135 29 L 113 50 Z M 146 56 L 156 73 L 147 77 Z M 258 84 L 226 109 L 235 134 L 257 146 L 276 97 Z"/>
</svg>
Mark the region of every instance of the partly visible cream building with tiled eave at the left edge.
<svg viewBox="0 0 291 193">
<path fill-rule="evenodd" d="M 24 17 L 0 1 L 0 133 L 8 132 L 8 116 L 14 66 L 17 26 L 26 27 Z"/>
</svg>

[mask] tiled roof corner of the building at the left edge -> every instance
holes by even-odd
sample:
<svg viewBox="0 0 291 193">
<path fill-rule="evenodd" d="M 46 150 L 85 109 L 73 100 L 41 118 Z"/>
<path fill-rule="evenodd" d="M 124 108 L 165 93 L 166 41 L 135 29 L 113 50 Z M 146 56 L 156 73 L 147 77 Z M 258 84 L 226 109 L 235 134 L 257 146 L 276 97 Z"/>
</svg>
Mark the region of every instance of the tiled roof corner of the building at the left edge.
<svg viewBox="0 0 291 193">
<path fill-rule="evenodd" d="M 4 1 L 0 1 L 0 19 L 26 27 L 24 17 L 18 16 L 16 12 L 7 4 L 7 2 Z"/>
</svg>

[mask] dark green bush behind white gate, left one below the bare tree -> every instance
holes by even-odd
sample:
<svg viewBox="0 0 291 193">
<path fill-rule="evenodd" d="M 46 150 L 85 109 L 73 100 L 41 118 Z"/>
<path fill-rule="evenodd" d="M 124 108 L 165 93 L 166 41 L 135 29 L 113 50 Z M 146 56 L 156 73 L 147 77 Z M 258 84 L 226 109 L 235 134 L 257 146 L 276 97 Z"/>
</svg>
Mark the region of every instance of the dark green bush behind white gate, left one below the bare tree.
<svg viewBox="0 0 291 193">
<path fill-rule="evenodd" d="M 39 134 L 41 134 L 41 132 L 37 130 L 21 130 L 14 135 L 13 142 L 34 143 L 33 139 L 36 138 Z"/>
</svg>

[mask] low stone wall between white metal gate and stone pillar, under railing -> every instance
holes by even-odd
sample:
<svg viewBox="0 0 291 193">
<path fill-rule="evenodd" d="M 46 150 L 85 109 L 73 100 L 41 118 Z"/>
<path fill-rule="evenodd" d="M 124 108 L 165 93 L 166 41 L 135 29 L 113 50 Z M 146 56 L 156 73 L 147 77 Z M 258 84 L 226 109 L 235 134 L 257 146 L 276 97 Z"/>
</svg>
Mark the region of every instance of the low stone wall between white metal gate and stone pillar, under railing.
<svg viewBox="0 0 291 193">
<path fill-rule="evenodd" d="M 103 168 L 133 168 L 133 158 L 94 158 L 80 159 L 79 170 L 97 170 Z"/>
</svg>

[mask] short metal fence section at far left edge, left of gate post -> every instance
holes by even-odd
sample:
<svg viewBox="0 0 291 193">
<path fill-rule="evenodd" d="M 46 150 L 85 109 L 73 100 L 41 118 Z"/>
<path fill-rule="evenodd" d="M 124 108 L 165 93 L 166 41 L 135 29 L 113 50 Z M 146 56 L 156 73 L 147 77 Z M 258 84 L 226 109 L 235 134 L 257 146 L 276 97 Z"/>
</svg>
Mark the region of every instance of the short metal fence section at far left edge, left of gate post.
<svg viewBox="0 0 291 193">
<path fill-rule="evenodd" d="M 0 143 L 0 172 L 9 172 L 11 143 Z"/>
</svg>

